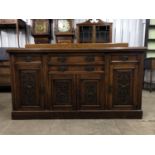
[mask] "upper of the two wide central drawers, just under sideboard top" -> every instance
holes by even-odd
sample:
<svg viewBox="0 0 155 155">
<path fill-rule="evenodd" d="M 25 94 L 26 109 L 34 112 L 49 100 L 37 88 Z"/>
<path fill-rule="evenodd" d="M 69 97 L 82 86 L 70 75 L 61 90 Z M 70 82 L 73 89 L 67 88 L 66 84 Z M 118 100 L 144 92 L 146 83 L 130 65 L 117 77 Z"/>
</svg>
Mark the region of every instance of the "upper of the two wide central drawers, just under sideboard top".
<svg viewBox="0 0 155 155">
<path fill-rule="evenodd" d="M 96 56 L 96 55 L 86 55 L 86 56 L 66 56 L 66 55 L 59 55 L 59 56 L 50 56 L 48 60 L 48 64 L 80 64 L 80 63 L 97 63 L 97 62 L 104 62 L 104 56 Z"/>
</svg>

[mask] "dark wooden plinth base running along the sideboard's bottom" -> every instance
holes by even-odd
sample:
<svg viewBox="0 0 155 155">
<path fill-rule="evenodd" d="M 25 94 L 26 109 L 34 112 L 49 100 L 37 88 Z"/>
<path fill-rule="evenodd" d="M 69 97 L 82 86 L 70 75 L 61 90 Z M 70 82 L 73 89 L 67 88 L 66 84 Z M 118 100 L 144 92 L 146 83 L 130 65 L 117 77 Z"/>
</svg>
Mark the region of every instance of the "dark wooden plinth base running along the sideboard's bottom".
<svg viewBox="0 0 155 155">
<path fill-rule="evenodd" d="M 13 111 L 12 119 L 141 119 L 142 115 L 142 110 Z"/>
</svg>

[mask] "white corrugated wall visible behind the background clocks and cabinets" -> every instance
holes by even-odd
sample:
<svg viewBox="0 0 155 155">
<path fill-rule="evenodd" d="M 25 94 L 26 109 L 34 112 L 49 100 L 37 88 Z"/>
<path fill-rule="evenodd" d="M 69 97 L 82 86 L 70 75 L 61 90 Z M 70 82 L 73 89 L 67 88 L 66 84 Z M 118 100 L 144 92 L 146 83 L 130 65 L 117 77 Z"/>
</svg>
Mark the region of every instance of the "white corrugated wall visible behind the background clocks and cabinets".
<svg viewBox="0 0 155 155">
<path fill-rule="evenodd" d="M 86 19 L 75 19 L 76 23 L 84 22 Z M 31 24 L 30 20 L 25 20 Z M 128 42 L 129 46 L 144 46 L 145 20 L 143 19 L 103 19 L 113 23 L 113 43 Z M 54 25 L 54 24 L 53 24 Z M 54 27 L 53 27 L 54 30 Z M 53 38 L 55 38 L 53 36 Z M 34 43 L 29 30 L 29 43 Z M 55 43 L 55 40 L 52 41 Z M 20 31 L 20 47 L 25 46 L 24 32 Z M 17 47 L 17 38 L 14 30 L 0 30 L 0 47 Z"/>
</svg>

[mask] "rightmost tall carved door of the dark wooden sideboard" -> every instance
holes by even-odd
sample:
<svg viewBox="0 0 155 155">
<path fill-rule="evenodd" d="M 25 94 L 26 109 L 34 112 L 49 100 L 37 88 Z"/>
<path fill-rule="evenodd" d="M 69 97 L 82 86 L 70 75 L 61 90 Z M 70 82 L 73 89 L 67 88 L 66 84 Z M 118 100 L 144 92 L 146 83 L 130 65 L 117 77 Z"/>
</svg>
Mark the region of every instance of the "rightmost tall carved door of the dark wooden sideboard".
<svg viewBox="0 0 155 155">
<path fill-rule="evenodd" d="M 110 67 L 110 108 L 135 109 L 137 107 L 136 64 L 113 64 Z"/>
</svg>

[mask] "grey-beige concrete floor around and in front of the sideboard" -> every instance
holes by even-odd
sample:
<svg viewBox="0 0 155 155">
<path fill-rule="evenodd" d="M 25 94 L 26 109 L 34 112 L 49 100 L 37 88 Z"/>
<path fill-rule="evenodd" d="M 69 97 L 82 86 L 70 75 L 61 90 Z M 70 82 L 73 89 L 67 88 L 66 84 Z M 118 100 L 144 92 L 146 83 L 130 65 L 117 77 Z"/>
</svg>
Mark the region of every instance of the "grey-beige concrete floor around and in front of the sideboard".
<svg viewBox="0 0 155 155">
<path fill-rule="evenodd" d="M 0 93 L 0 134 L 141 135 L 155 134 L 155 92 L 143 91 L 143 119 L 11 120 L 11 94 Z"/>
</svg>

